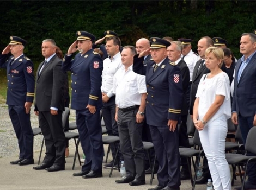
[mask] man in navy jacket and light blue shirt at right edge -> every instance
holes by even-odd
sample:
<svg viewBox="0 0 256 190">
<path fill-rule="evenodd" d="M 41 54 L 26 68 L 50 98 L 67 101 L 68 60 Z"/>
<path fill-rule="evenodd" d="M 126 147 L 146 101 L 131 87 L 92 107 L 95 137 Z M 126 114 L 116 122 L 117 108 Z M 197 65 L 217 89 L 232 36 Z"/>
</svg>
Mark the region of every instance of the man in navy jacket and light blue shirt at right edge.
<svg viewBox="0 0 256 190">
<path fill-rule="evenodd" d="M 243 144 L 251 128 L 256 126 L 256 35 L 243 33 L 240 40 L 240 53 L 243 54 L 236 62 L 234 77 L 234 94 L 232 105 L 232 121 L 240 126 Z M 247 156 L 256 156 L 247 152 Z M 249 162 L 248 180 L 245 189 L 256 187 L 256 163 Z M 236 190 L 242 187 L 235 188 Z"/>
</svg>

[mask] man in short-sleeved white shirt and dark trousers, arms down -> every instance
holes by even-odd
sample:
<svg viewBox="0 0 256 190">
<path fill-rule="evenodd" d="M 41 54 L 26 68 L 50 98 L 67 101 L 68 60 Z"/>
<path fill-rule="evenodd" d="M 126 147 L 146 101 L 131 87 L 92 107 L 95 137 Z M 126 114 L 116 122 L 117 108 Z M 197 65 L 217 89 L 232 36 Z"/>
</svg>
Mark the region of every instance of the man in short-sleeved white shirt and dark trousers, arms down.
<svg viewBox="0 0 256 190">
<path fill-rule="evenodd" d="M 121 153 L 124 156 L 126 176 L 117 183 L 129 183 L 130 186 L 145 184 L 144 150 L 142 128 L 146 106 L 147 89 L 145 77 L 132 71 L 133 56 L 136 49 L 125 46 L 121 53 L 124 67 L 114 75 L 113 93 L 116 94 Z"/>
</svg>

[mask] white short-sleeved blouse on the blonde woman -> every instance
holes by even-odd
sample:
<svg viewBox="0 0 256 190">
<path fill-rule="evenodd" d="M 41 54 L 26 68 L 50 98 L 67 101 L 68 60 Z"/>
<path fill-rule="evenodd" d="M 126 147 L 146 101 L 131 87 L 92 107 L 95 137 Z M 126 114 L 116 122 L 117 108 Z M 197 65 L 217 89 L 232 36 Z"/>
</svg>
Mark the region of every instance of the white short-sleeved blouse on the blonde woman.
<svg viewBox="0 0 256 190">
<path fill-rule="evenodd" d="M 227 73 L 221 72 L 210 79 L 207 78 L 207 74 L 204 74 L 200 80 L 196 94 L 199 98 L 199 119 L 203 119 L 211 104 L 214 103 L 216 95 L 225 96 L 224 102 L 208 123 L 222 115 L 227 119 L 231 117 L 229 78 Z"/>
</svg>

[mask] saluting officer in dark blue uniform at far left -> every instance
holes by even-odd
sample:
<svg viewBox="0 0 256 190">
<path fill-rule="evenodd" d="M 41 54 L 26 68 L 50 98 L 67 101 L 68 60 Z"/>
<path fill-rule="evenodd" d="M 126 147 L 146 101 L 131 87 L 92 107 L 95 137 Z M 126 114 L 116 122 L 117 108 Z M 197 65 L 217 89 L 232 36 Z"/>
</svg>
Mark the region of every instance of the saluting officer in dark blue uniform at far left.
<svg viewBox="0 0 256 190">
<path fill-rule="evenodd" d="M 19 159 L 11 164 L 33 164 L 34 135 L 31 128 L 30 109 L 34 99 L 33 62 L 23 54 L 26 41 L 10 36 L 9 45 L 0 55 L 0 67 L 7 69 L 7 101 L 11 123 L 18 138 Z M 8 53 L 13 54 L 8 58 Z M 8 59 L 7 59 L 8 58 Z"/>
</svg>

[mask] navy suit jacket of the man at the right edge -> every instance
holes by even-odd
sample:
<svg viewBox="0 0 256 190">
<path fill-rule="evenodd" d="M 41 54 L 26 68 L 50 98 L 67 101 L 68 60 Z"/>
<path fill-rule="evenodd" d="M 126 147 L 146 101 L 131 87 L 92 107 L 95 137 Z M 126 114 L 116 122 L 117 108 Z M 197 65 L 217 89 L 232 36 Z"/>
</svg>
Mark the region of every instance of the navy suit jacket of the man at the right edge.
<svg viewBox="0 0 256 190">
<path fill-rule="evenodd" d="M 256 54 L 248 62 L 238 82 L 237 73 L 241 63 L 241 59 L 236 62 L 232 111 L 243 117 L 251 117 L 256 113 Z"/>
</svg>

